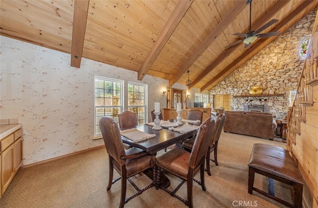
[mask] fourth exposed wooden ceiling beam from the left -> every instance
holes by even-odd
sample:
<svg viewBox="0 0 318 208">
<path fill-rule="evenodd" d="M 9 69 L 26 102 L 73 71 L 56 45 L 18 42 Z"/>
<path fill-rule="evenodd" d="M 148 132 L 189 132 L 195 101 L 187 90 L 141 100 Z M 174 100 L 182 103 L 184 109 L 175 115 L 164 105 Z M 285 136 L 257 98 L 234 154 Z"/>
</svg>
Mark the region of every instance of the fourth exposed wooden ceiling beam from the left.
<svg viewBox="0 0 318 208">
<path fill-rule="evenodd" d="M 265 15 L 263 15 L 254 25 L 253 28 L 256 30 L 265 24 L 272 16 L 274 16 L 279 10 L 281 10 L 290 0 L 280 0 L 274 6 L 272 6 Z M 221 53 L 221 55 L 211 63 L 193 82 L 189 87 L 191 89 L 195 86 L 199 81 L 201 81 L 208 73 L 213 71 L 219 63 L 221 63 L 225 58 L 227 58 L 232 52 L 236 51 L 240 45 L 227 49 L 225 52 Z"/>
</svg>

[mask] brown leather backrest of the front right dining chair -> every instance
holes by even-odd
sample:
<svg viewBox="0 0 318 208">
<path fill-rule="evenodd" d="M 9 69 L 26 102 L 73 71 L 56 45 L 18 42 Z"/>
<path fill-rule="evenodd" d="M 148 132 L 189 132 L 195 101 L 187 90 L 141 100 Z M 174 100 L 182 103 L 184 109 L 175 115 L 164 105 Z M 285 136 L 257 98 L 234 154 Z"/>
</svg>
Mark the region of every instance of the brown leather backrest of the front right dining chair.
<svg viewBox="0 0 318 208">
<path fill-rule="evenodd" d="M 189 167 L 195 168 L 202 157 L 205 157 L 208 151 L 208 145 L 211 142 L 214 131 L 215 121 L 213 118 L 207 118 L 199 127 L 190 155 Z"/>
</svg>

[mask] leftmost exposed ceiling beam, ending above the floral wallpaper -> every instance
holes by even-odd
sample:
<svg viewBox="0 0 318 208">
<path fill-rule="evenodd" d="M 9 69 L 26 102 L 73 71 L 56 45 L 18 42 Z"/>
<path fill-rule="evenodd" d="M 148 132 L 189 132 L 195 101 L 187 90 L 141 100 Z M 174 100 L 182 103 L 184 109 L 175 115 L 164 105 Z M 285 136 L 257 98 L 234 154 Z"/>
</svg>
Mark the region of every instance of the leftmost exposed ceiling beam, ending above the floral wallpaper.
<svg viewBox="0 0 318 208">
<path fill-rule="evenodd" d="M 71 66 L 80 67 L 84 47 L 89 0 L 75 0 L 71 48 Z"/>
</svg>

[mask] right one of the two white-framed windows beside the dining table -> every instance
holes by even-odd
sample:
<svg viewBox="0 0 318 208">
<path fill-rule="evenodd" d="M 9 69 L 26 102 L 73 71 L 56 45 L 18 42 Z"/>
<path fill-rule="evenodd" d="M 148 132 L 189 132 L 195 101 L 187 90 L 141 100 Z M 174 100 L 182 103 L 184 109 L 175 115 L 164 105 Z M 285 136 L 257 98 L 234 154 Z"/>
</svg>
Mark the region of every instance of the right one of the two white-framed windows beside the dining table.
<svg viewBox="0 0 318 208">
<path fill-rule="evenodd" d="M 128 110 L 136 113 L 138 124 L 147 122 L 147 85 L 128 82 Z"/>
</svg>

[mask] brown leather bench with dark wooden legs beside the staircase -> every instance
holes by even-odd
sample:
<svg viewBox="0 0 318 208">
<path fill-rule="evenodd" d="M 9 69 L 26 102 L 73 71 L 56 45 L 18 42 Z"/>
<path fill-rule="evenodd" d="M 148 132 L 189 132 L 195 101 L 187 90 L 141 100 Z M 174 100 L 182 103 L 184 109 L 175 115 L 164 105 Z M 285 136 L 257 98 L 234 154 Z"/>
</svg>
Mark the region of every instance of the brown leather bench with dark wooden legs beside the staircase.
<svg viewBox="0 0 318 208">
<path fill-rule="evenodd" d="M 269 193 L 253 187 L 255 173 L 268 177 Z M 293 205 L 274 196 L 272 179 L 292 186 Z M 273 145 L 254 144 L 248 162 L 248 193 L 252 194 L 253 190 L 289 207 L 302 207 L 302 176 L 287 150 Z"/>
</svg>

